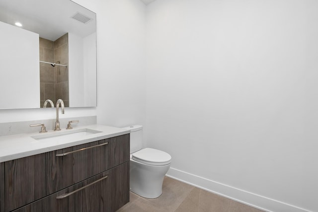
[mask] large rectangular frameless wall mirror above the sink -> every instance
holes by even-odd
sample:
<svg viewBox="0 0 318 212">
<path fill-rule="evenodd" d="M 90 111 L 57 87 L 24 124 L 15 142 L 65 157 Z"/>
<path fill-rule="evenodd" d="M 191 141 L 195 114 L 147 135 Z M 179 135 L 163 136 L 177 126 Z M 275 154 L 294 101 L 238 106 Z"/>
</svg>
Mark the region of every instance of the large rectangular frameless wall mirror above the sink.
<svg viewBox="0 0 318 212">
<path fill-rule="evenodd" d="M 0 109 L 47 99 L 96 107 L 94 12 L 71 0 L 0 0 L 0 31 Z"/>
</svg>

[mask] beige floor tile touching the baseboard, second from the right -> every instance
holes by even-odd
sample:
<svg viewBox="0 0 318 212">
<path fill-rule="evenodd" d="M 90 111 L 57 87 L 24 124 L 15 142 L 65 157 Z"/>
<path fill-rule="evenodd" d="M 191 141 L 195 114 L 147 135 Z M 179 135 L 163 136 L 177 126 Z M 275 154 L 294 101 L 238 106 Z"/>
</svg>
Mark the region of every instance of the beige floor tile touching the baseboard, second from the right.
<svg viewBox="0 0 318 212">
<path fill-rule="evenodd" d="M 198 212 L 228 212 L 229 207 L 229 199 L 201 190 Z"/>
</svg>

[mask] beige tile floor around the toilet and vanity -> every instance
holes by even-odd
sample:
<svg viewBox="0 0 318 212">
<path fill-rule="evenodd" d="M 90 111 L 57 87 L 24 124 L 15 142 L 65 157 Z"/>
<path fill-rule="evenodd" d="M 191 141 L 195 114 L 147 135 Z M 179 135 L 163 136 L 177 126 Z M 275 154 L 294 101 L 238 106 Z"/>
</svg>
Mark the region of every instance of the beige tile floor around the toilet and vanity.
<svg viewBox="0 0 318 212">
<path fill-rule="evenodd" d="M 233 200 L 165 177 L 156 199 L 130 193 L 130 202 L 117 212 L 262 212 Z"/>
</svg>

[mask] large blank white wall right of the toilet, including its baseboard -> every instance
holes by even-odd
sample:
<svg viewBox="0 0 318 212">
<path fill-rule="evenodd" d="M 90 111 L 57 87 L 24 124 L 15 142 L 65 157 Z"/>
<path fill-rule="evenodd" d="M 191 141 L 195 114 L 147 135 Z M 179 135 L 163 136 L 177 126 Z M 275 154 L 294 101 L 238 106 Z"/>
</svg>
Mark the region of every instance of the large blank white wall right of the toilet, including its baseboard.
<svg viewBox="0 0 318 212">
<path fill-rule="evenodd" d="M 318 1 L 147 6 L 148 145 L 168 174 L 269 211 L 318 211 Z"/>
</svg>

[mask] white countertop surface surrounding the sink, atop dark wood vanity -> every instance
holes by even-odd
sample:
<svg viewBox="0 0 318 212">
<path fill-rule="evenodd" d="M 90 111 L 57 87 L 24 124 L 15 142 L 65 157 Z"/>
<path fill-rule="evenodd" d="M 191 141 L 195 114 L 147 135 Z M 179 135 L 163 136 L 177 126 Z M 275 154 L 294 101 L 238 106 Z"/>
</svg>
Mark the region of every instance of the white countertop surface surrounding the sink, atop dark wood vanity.
<svg viewBox="0 0 318 212">
<path fill-rule="evenodd" d="M 71 133 L 79 129 L 91 129 L 100 131 L 100 133 L 84 135 L 74 139 L 57 139 L 55 141 L 40 141 L 33 139 L 32 136 L 39 135 L 54 135 L 61 132 Z M 111 137 L 121 136 L 130 133 L 130 130 L 109 127 L 104 125 L 88 125 L 74 127 L 72 130 L 63 129 L 55 132 L 53 130 L 47 133 L 29 133 L 18 134 L 12 136 L 0 137 L 0 162 L 13 160 L 21 157 L 27 157 L 35 154 L 40 154 L 48 151 L 53 151 L 61 148 L 66 148 L 74 145 L 108 139 Z"/>
</svg>

